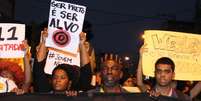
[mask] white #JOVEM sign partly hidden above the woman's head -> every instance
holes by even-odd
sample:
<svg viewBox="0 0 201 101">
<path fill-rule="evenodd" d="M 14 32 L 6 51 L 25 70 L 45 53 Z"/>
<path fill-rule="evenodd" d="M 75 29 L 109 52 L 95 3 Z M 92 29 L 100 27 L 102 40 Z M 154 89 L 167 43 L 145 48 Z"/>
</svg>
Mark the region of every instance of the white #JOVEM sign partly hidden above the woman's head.
<svg viewBox="0 0 201 101">
<path fill-rule="evenodd" d="M 58 50 L 49 49 L 45 64 L 45 73 L 52 74 L 53 69 L 59 64 L 70 64 L 80 66 L 80 55 L 77 56 L 62 53 Z"/>
</svg>

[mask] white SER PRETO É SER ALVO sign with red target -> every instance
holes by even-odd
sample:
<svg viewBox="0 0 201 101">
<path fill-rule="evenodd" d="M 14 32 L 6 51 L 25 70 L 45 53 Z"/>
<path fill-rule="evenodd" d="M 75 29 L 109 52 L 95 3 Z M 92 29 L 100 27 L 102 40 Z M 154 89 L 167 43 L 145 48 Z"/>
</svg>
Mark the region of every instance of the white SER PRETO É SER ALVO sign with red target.
<svg viewBox="0 0 201 101">
<path fill-rule="evenodd" d="M 85 6 L 52 0 L 46 46 L 77 54 Z"/>
</svg>

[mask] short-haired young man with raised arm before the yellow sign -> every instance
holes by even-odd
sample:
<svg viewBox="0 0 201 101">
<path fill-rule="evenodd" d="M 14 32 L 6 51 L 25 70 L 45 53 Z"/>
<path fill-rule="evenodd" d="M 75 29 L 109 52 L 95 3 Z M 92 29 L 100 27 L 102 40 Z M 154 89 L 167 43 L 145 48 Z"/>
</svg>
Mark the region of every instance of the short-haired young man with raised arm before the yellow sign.
<svg viewBox="0 0 201 101">
<path fill-rule="evenodd" d="M 137 69 L 137 85 L 142 92 L 147 92 L 147 88 L 142 80 L 142 53 L 145 51 L 144 46 L 140 49 L 140 59 Z M 175 76 L 175 64 L 168 57 L 161 57 L 155 63 L 155 87 L 150 92 L 153 96 L 174 97 L 182 101 L 191 101 L 190 97 L 179 92 L 172 87 L 172 80 Z"/>
</svg>

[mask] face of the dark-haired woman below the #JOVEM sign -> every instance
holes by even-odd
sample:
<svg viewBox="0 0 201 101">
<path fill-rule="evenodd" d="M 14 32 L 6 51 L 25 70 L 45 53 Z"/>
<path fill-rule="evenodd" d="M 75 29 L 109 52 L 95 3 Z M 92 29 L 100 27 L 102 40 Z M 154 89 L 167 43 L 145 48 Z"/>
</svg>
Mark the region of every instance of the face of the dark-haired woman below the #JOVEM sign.
<svg viewBox="0 0 201 101">
<path fill-rule="evenodd" d="M 62 69 L 57 69 L 52 77 L 52 85 L 55 91 L 65 91 L 68 88 L 69 78 Z"/>
</svg>

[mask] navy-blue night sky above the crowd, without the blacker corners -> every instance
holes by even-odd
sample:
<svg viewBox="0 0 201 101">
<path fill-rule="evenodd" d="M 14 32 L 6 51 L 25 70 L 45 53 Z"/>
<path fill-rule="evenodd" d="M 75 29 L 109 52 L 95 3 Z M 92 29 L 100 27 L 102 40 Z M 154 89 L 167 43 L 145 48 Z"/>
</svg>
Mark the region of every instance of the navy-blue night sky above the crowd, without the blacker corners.
<svg viewBox="0 0 201 101">
<path fill-rule="evenodd" d="M 96 52 L 136 54 L 145 29 L 159 29 L 168 19 L 193 21 L 196 0 L 62 0 L 87 6 Z M 16 0 L 16 20 L 48 20 L 50 0 Z"/>
</svg>

